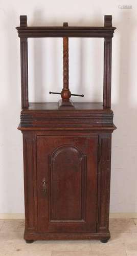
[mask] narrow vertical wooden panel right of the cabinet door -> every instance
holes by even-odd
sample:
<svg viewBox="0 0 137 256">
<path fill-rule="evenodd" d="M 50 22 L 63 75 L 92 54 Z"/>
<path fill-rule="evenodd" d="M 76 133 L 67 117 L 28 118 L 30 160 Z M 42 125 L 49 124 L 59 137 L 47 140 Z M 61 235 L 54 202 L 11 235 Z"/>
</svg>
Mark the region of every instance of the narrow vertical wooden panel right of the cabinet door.
<svg viewBox="0 0 137 256">
<path fill-rule="evenodd" d="M 108 231 L 110 201 L 111 134 L 102 134 L 99 139 L 100 160 L 98 173 L 98 230 Z"/>
</svg>

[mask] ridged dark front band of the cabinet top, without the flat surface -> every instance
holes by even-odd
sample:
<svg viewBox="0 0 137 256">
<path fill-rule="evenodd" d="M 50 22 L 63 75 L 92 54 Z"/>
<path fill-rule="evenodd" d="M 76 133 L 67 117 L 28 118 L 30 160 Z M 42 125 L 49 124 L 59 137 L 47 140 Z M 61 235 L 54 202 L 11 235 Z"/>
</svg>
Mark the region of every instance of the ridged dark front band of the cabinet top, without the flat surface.
<svg viewBox="0 0 137 256">
<path fill-rule="evenodd" d="M 63 113 L 62 113 L 63 112 Z M 113 129 L 113 112 L 105 113 L 73 113 L 61 111 L 52 112 L 41 111 L 33 112 L 29 110 L 21 111 L 20 124 L 22 127 L 112 127 Z M 59 120 L 59 121 L 58 121 Z M 58 121 L 58 122 L 57 122 Z"/>
</svg>

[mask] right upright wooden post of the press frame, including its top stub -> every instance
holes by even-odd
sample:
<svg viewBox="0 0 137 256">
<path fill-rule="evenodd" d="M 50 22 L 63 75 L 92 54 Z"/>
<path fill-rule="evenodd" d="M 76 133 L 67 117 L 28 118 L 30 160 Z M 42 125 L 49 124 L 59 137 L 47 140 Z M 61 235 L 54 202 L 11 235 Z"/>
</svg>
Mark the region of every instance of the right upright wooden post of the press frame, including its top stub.
<svg viewBox="0 0 137 256">
<path fill-rule="evenodd" d="M 104 16 L 104 27 L 112 27 L 112 16 Z M 111 54 L 112 38 L 104 38 L 104 82 L 103 82 L 103 105 L 111 108 Z"/>
</svg>

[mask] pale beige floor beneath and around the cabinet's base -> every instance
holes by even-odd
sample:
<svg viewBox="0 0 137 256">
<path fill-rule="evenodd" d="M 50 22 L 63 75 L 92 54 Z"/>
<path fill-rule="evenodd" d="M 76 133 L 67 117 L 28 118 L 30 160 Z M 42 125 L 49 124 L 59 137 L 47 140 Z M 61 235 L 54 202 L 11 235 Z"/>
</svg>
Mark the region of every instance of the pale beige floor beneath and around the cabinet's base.
<svg viewBox="0 0 137 256">
<path fill-rule="evenodd" d="M 110 219 L 111 239 L 35 241 L 23 239 L 24 220 L 0 220 L 0 256 L 137 256 L 137 219 Z"/>
</svg>

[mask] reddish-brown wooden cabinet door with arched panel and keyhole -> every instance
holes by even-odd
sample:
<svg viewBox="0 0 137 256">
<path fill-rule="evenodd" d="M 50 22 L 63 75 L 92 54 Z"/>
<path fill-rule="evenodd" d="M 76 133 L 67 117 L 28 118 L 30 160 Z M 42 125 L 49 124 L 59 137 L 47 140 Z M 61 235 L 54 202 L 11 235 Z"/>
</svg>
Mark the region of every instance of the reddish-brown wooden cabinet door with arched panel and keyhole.
<svg viewBox="0 0 137 256">
<path fill-rule="evenodd" d="M 96 232 L 98 136 L 37 136 L 38 232 Z"/>
</svg>

